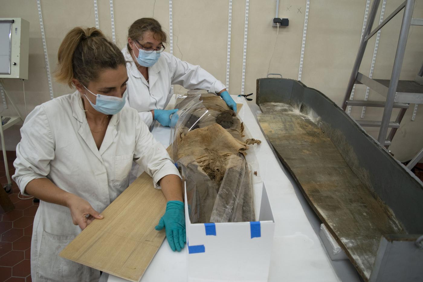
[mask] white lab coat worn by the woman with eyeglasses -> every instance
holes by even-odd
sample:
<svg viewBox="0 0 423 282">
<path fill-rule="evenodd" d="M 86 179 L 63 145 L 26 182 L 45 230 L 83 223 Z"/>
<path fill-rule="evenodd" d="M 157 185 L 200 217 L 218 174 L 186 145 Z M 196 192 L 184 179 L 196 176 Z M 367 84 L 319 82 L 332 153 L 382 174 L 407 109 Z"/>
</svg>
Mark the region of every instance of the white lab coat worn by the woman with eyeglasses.
<svg viewBox="0 0 423 282">
<path fill-rule="evenodd" d="M 181 61 L 163 52 L 156 64 L 148 68 L 148 82 L 138 71 L 128 48 L 122 49 L 128 72 L 128 95 L 126 105 L 135 108 L 148 127 L 153 123 L 151 110 L 164 109 L 172 97 L 172 84 L 187 89 L 205 89 L 219 93 L 226 86 L 200 66 Z"/>
</svg>

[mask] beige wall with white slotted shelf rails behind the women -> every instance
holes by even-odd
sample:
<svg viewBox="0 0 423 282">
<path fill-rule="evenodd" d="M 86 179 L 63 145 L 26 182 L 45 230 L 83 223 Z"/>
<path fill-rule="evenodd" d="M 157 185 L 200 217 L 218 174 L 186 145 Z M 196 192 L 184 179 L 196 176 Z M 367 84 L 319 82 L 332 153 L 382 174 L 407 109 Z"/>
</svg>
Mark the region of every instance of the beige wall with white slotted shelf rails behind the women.
<svg viewBox="0 0 423 282">
<path fill-rule="evenodd" d="M 387 0 L 385 17 L 403 0 Z M 111 37 L 110 6 L 107 0 L 98 0 L 99 26 Z M 365 0 L 310 1 L 307 40 L 305 46 L 302 82 L 326 94 L 341 105 L 348 78 L 357 53 L 363 25 Z M 423 5 L 416 1 L 414 17 L 423 17 Z M 178 58 L 199 64 L 225 83 L 228 36 L 228 0 L 173 0 L 173 52 Z M 280 73 L 286 78 L 298 78 L 306 0 L 280 0 L 279 16 L 289 18 L 289 27 L 272 28 L 275 15 L 275 0 L 250 0 L 245 93 L 255 93 L 255 80 L 266 77 L 268 71 Z M 116 44 L 123 48 L 126 32 L 137 18 L 154 17 L 169 32 L 169 2 L 166 0 L 114 0 Z M 0 17 L 22 17 L 30 22 L 29 79 L 25 81 L 27 111 L 49 100 L 49 88 L 42 49 L 41 31 L 36 1 L 0 0 Z M 57 64 L 57 50 L 66 32 L 74 26 L 94 26 L 92 0 L 41 0 L 44 29 L 50 68 Z M 288 10 L 289 8 L 289 10 Z M 298 11 L 300 9 L 300 12 Z M 402 16 L 402 12 L 398 14 Z M 398 40 L 401 18 L 382 30 L 374 77 L 389 78 Z M 242 54 L 244 41 L 245 1 L 233 0 L 230 93 L 241 91 Z M 376 16 L 376 21 L 379 15 Z M 421 48 L 423 28 L 414 26 L 410 30 L 401 79 L 414 79 L 423 62 Z M 275 46 L 272 56 L 272 50 Z M 360 71 L 367 74 L 373 55 L 374 38 L 369 41 Z M 167 51 L 170 47 L 167 47 Z M 272 56 L 272 60 L 271 59 Z M 25 112 L 22 81 L 7 80 L 5 88 Z M 67 86 L 53 81 L 55 97 L 71 93 Z M 176 93 L 184 91 L 175 88 Z M 362 99 L 365 87 L 356 88 L 355 97 Z M 383 100 L 379 94 L 370 94 L 371 99 Z M 253 101 L 255 102 L 255 101 Z M 253 103 L 252 102 L 252 103 Z M 8 103 L 10 106 L 10 103 Z M 410 159 L 423 147 L 423 105 L 416 120 L 411 121 L 412 108 L 393 140 L 390 149 L 401 160 Z M 352 116 L 360 118 L 361 107 L 355 107 Z M 397 112 L 394 111 L 393 115 Z M 10 115 L 10 109 L 2 115 Z M 377 120 L 381 109 L 368 108 L 365 119 Z M 394 117 L 393 117 L 394 119 Z M 369 133 L 377 137 L 376 129 Z M 19 126 L 9 129 L 6 147 L 13 149 L 19 141 Z"/>
</svg>

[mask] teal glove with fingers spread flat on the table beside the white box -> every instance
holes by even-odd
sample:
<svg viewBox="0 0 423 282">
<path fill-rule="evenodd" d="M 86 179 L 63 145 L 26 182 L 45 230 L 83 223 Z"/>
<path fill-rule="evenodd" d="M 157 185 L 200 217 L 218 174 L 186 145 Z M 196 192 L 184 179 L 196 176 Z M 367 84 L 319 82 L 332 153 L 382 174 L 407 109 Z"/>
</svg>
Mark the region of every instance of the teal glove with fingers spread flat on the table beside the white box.
<svg viewBox="0 0 423 282">
<path fill-rule="evenodd" d="M 165 214 L 160 218 L 156 230 L 162 230 L 165 227 L 166 238 L 168 238 L 170 249 L 173 252 L 184 249 L 187 243 L 187 234 L 185 231 L 184 203 L 181 201 L 169 201 L 166 205 Z"/>
</svg>

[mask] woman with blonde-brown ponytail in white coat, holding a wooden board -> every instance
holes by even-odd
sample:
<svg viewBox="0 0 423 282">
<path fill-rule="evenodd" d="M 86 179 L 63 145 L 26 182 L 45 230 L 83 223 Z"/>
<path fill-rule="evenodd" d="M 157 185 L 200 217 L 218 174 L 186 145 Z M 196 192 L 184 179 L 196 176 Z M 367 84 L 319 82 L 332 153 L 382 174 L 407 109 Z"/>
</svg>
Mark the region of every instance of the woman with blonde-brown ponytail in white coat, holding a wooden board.
<svg viewBox="0 0 423 282">
<path fill-rule="evenodd" d="M 58 254 L 128 187 L 132 162 L 161 186 L 168 206 L 159 229 L 172 235 L 173 250 L 184 247 L 179 172 L 137 111 L 124 107 L 125 64 L 101 30 L 72 29 L 60 45 L 55 76 L 76 91 L 38 105 L 25 119 L 13 179 L 22 194 L 41 200 L 33 224 L 32 281 L 99 280 L 99 271 Z"/>
</svg>

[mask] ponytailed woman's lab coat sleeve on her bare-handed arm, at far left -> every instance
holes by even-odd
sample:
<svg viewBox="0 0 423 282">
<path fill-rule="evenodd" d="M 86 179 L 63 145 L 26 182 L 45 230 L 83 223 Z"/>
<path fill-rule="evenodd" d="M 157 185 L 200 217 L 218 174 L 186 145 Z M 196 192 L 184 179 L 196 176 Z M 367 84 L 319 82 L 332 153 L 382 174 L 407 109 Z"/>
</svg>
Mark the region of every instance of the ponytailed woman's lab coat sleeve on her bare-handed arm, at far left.
<svg viewBox="0 0 423 282">
<path fill-rule="evenodd" d="M 37 106 L 25 119 L 21 141 L 16 146 L 16 169 L 12 179 L 25 194 L 26 185 L 34 179 L 46 178 L 50 160 L 55 158 L 55 142 L 43 105 Z"/>
</svg>

